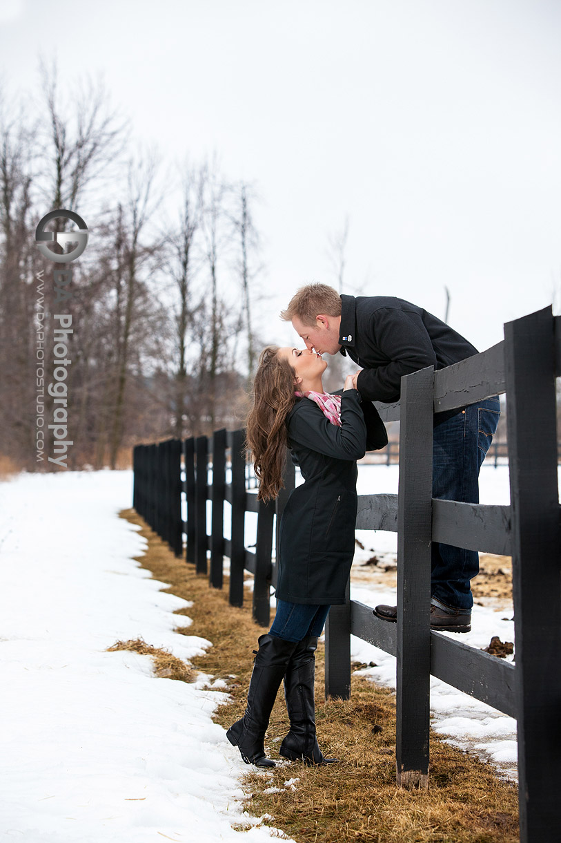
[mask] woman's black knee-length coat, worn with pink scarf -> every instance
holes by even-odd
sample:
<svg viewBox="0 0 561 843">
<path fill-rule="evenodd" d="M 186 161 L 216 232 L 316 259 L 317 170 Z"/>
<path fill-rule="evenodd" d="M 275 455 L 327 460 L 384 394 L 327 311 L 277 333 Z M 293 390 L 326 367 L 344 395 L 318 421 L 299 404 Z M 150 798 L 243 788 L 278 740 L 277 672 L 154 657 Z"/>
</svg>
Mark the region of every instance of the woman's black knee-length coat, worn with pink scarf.
<svg viewBox="0 0 561 843">
<path fill-rule="evenodd" d="M 340 390 L 339 393 L 340 394 Z M 341 427 L 309 398 L 287 417 L 292 460 L 304 483 L 280 518 L 276 597 L 290 603 L 345 603 L 355 555 L 356 460 L 387 444 L 386 428 L 356 389 L 341 395 Z"/>
</svg>

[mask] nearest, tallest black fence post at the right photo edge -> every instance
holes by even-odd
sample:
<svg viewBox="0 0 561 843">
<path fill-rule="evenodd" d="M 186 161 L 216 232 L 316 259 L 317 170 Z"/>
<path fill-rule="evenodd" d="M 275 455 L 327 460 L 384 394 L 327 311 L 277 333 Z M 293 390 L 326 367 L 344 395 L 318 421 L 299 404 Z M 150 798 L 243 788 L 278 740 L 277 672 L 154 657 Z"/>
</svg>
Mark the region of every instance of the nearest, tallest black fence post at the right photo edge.
<svg viewBox="0 0 561 843">
<path fill-rule="evenodd" d="M 507 322 L 521 843 L 559 839 L 561 540 L 555 374 L 551 306 Z"/>
</svg>

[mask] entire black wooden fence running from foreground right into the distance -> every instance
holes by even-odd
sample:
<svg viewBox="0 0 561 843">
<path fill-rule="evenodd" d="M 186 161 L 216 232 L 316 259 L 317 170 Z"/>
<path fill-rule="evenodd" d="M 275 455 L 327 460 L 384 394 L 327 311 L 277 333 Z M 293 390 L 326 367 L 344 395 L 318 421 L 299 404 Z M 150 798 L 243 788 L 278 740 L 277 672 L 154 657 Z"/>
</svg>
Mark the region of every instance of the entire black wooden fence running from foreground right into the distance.
<svg viewBox="0 0 561 843">
<path fill-rule="evenodd" d="M 556 376 L 561 375 L 561 318 L 551 308 L 505 325 L 505 341 L 435 372 L 426 368 L 402 379 L 398 405 L 378 405 L 386 421 L 400 419 L 398 495 L 359 497 L 356 527 L 398 533 L 398 623 L 373 615 L 347 599 L 333 606 L 326 626 L 326 695 L 350 695 L 350 635 L 397 658 L 398 783 L 426 787 L 429 773 L 430 675 L 504 711 L 518 722 L 520 830 L 523 843 L 559 840 L 558 746 L 561 732 L 561 519 L 558 502 Z M 506 393 L 510 464 L 510 506 L 489 506 L 432 498 L 433 414 L 491 395 Z M 170 457 L 158 468 L 159 450 L 172 443 L 135 450 L 135 500 L 176 552 L 174 498 L 172 529 L 165 508 L 177 489 L 177 465 Z M 177 453 L 177 443 L 174 444 Z M 184 443 L 187 498 L 187 560 L 206 573 L 211 550 L 211 584 L 222 585 L 222 556 L 230 557 L 230 599 L 241 604 L 243 568 L 254 572 L 254 617 L 270 620 L 270 584 L 275 583 L 271 545 L 275 512 L 280 514 L 294 486 L 275 504 L 258 504 L 247 491 L 243 431 L 215 432 L 211 486 L 204 437 Z M 151 450 L 152 449 L 152 450 Z M 229 449 L 230 481 L 226 482 Z M 163 450 L 163 454 L 168 454 Z M 140 462 L 138 461 L 140 459 Z M 196 470 L 196 469 L 199 470 Z M 202 470 L 201 470 L 202 469 Z M 137 483 L 136 474 L 139 474 Z M 158 473 L 159 472 L 159 473 Z M 158 480 L 159 476 L 159 480 Z M 154 497 L 155 496 L 155 497 Z M 168 497 L 166 497 L 168 496 Z M 158 504 L 163 497 L 163 504 Z M 206 500 L 212 500 L 211 536 L 206 534 Z M 222 535 L 223 502 L 232 507 L 232 538 Z M 136 503 L 135 503 L 136 507 Z M 137 507 L 136 507 L 137 508 Z M 140 512 L 141 510 L 139 510 Z M 243 545 L 244 513 L 258 513 L 255 553 Z M 216 516 L 215 516 L 216 513 Z M 151 520 L 152 519 L 152 520 Z M 279 518 L 277 518 L 278 525 Z M 160 534 L 163 534 L 160 532 Z M 430 630 L 430 542 L 445 542 L 512 556 L 516 667 L 456 638 Z M 348 587 L 347 587 L 348 588 Z M 477 616 L 476 616 L 477 622 Z"/>
</svg>

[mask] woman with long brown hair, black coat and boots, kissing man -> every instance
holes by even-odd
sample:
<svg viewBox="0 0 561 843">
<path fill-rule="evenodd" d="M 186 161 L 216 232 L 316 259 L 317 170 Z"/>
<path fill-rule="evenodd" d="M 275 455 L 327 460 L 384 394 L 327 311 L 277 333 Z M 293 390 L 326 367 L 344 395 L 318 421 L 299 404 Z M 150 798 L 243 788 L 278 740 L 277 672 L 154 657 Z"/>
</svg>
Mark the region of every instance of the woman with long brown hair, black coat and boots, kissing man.
<svg viewBox="0 0 561 843">
<path fill-rule="evenodd" d="M 241 720 L 227 731 L 246 764 L 274 767 L 264 752 L 277 691 L 285 682 L 290 732 L 279 753 L 307 764 L 330 764 L 316 739 L 313 679 L 318 637 L 331 604 L 345 603 L 355 552 L 356 460 L 387 444 L 376 408 L 350 375 L 342 395 L 323 391 L 327 363 L 307 348 L 268 346 L 259 357 L 247 441 L 259 477 L 259 500 L 282 488 L 286 446 L 304 483 L 280 518 L 276 615 L 259 651 Z"/>
</svg>

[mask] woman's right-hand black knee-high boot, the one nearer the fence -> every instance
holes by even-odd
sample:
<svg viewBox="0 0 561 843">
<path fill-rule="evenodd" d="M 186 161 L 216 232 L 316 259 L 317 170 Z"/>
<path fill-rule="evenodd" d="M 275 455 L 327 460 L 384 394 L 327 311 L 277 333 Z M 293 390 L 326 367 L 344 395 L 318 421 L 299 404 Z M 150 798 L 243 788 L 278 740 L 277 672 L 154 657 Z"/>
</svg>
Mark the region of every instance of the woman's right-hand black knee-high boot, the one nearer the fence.
<svg viewBox="0 0 561 843">
<path fill-rule="evenodd" d="M 315 651 L 318 638 L 304 638 L 297 644 L 285 674 L 285 698 L 291 730 L 280 744 L 279 754 L 305 764 L 333 764 L 325 758 L 316 738 L 316 714 L 313 697 Z"/>
</svg>

